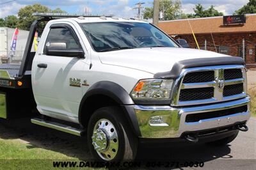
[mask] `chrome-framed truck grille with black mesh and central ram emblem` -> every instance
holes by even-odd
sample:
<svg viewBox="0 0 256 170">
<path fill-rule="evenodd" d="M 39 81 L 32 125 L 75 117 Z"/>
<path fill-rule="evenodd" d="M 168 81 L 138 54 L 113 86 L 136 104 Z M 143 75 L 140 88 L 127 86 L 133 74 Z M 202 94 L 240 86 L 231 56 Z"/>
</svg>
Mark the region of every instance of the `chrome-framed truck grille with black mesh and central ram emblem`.
<svg viewBox="0 0 256 170">
<path fill-rule="evenodd" d="M 243 98 L 246 88 L 243 65 L 186 68 L 175 82 L 172 105 L 209 104 Z"/>
</svg>

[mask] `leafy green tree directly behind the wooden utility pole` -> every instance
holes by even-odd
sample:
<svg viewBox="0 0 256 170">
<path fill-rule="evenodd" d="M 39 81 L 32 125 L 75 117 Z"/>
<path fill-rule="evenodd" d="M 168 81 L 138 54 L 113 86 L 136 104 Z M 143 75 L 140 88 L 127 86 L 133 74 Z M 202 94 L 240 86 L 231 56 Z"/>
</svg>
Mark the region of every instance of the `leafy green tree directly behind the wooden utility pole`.
<svg viewBox="0 0 256 170">
<path fill-rule="evenodd" d="M 163 20 L 177 19 L 181 14 L 180 0 L 159 0 L 159 11 L 163 12 Z M 147 7 L 143 11 L 144 19 L 153 18 L 153 7 Z"/>
</svg>

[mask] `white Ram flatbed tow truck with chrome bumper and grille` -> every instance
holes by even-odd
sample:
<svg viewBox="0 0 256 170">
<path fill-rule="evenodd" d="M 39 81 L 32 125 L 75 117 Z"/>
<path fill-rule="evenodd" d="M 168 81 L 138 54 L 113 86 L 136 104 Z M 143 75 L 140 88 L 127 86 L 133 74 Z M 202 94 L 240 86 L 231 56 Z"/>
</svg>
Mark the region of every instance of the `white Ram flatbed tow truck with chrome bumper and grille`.
<svg viewBox="0 0 256 170">
<path fill-rule="evenodd" d="M 33 113 L 32 123 L 87 135 L 106 162 L 133 160 L 138 143 L 227 144 L 248 130 L 242 58 L 184 49 L 141 20 L 61 17 L 36 20 L 22 64 L 0 65 L 1 118 Z"/>
</svg>

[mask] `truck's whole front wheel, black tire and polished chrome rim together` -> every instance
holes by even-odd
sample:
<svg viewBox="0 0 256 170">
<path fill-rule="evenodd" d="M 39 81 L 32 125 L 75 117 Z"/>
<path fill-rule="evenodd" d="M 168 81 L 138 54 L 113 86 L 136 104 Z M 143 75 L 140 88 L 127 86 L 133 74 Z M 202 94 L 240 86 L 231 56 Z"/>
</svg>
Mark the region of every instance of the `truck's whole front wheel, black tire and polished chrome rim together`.
<svg viewBox="0 0 256 170">
<path fill-rule="evenodd" d="M 88 123 L 88 146 L 96 160 L 134 160 L 138 139 L 131 132 L 119 107 L 95 111 Z"/>
</svg>

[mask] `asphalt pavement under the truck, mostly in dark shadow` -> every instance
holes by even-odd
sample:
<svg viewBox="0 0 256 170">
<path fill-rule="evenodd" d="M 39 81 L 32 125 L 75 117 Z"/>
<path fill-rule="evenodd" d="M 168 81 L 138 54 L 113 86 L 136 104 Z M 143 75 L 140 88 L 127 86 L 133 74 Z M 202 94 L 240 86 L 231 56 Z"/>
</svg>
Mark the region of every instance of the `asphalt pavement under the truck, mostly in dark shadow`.
<svg viewBox="0 0 256 170">
<path fill-rule="evenodd" d="M 239 132 L 237 138 L 227 146 L 171 146 L 170 148 L 148 148 L 141 146 L 138 159 L 172 161 L 202 160 L 204 167 L 177 169 L 256 169 L 256 118 L 248 121 L 248 132 Z M 86 139 L 65 134 L 30 123 L 29 119 L 0 121 L 1 139 L 19 139 L 29 143 L 32 148 L 58 151 L 70 157 L 90 160 Z M 140 168 L 141 169 L 141 168 Z M 143 167 L 142 169 L 164 169 L 164 167 Z M 165 169 L 171 169 L 170 167 Z"/>
</svg>

